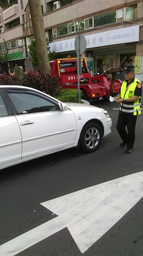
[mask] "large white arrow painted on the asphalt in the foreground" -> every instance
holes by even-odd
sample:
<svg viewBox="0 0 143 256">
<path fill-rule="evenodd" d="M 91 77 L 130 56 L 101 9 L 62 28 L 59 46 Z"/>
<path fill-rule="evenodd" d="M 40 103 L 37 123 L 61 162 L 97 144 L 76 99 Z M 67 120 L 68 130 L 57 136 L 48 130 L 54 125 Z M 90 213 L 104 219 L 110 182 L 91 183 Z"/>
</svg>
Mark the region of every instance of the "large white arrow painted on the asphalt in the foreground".
<svg viewBox="0 0 143 256">
<path fill-rule="evenodd" d="M 58 215 L 0 245 L 0 256 L 14 256 L 67 227 L 84 253 L 143 197 L 143 171 L 42 203 Z"/>
</svg>

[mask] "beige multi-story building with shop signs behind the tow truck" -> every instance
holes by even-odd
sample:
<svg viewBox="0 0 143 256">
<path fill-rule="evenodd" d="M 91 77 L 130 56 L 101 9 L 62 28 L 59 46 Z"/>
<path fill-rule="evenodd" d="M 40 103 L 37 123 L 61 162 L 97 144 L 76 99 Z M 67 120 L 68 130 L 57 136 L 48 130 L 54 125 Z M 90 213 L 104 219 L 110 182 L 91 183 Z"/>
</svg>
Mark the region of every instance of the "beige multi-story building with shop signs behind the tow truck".
<svg viewBox="0 0 143 256">
<path fill-rule="evenodd" d="M 0 8 L 0 50 L 9 47 L 9 66 L 26 69 L 27 46 L 34 37 L 28 0 L 9 0 Z M 126 56 L 143 81 L 143 1 L 41 0 L 45 36 L 59 58 L 76 56 L 75 38 L 84 35 L 88 67 L 117 68 Z M 119 75 L 119 74 L 118 74 Z"/>
</svg>

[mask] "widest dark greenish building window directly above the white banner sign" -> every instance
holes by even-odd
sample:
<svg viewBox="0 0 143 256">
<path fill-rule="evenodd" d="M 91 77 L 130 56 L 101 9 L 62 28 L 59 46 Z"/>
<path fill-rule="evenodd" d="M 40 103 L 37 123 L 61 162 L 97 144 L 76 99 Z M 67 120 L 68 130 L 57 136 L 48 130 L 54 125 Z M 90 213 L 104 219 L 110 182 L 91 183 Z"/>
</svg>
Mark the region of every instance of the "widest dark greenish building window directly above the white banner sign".
<svg viewBox="0 0 143 256">
<path fill-rule="evenodd" d="M 116 23 L 116 10 L 109 13 L 96 15 L 94 18 L 94 27 L 100 27 L 111 23 Z"/>
</svg>

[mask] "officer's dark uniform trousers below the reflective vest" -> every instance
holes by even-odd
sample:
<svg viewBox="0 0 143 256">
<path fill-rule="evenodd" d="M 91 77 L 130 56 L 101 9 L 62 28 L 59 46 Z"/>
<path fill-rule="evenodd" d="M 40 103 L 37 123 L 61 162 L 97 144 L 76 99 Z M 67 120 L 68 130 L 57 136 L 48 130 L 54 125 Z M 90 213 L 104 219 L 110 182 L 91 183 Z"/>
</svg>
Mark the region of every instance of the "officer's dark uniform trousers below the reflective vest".
<svg viewBox="0 0 143 256">
<path fill-rule="evenodd" d="M 127 142 L 127 148 L 133 148 L 135 140 L 135 126 L 137 115 L 119 113 L 117 120 L 117 131 L 122 141 Z M 127 126 L 128 133 L 125 127 Z"/>
</svg>

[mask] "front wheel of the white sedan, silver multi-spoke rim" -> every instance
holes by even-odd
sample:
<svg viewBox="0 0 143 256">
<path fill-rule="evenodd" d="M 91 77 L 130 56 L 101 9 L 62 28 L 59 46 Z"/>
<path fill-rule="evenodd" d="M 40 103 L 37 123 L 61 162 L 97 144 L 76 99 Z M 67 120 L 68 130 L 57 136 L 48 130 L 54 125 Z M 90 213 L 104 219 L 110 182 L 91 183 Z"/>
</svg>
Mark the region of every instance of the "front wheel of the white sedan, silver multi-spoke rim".
<svg viewBox="0 0 143 256">
<path fill-rule="evenodd" d="M 102 141 L 102 136 L 102 129 L 99 124 L 94 121 L 86 124 L 79 138 L 81 151 L 86 153 L 96 151 Z"/>
</svg>

